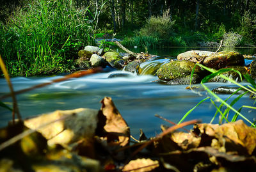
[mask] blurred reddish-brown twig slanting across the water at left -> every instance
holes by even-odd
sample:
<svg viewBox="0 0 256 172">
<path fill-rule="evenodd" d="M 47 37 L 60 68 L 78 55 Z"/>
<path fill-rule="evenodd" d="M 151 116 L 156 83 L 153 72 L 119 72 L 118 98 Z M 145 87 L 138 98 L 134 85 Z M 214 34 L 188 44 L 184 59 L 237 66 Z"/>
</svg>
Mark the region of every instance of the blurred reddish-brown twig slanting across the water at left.
<svg viewBox="0 0 256 172">
<path fill-rule="evenodd" d="M 26 88 L 26 89 L 23 89 L 23 90 L 15 91 L 14 93 L 15 93 L 15 95 L 18 95 L 20 93 L 25 93 L 27 91 L 35 90 L 36 88 L 42 88 L 44 86 L 51 85 L 51 84 L 53 84 L 55 82 L 66 81 L 67 79 L 71 79 L 71 78 L 74 78 L 74 77 L 83 77 L 84 75 L 94 74 L 94 73 L 100 72 L 101 70 L 102 70 L 102 68 L 99 67 L 99 68 L 94 68 L 94 69 L 90 69 L 90 70 L 75 72 L 73 74 L 65 75 L 65 77 L 61 77 L 59 79 L 54 79 L 51 82 L 47 82 L 47 83 L 43 83 L 43 84 L 38 84 L 38 85 L 32 86 L 30 88 Z M 11 94 L 3 95 L 2 97 L 0 97 L 0 100 L 2 100 L 4 98 L 7 98 L 7 97 L 10 97 L 10 95 Z"/>
</svg>

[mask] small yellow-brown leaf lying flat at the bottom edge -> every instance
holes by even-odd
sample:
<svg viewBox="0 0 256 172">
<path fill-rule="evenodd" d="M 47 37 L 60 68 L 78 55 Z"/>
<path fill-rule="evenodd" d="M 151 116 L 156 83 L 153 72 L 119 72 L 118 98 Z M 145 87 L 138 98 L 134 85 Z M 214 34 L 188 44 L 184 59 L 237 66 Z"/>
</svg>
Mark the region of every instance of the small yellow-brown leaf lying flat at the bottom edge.
<svg viewBox="0 0 256 172">
<path fill-rule="evenodd" d="M 152 171 L 157 167 L 159 167 L 159 162 L 157 160 L 136 159 L 131 160 L 127 165 L 125 165 L 122 171 L 145 172 Z"/>
</svg>

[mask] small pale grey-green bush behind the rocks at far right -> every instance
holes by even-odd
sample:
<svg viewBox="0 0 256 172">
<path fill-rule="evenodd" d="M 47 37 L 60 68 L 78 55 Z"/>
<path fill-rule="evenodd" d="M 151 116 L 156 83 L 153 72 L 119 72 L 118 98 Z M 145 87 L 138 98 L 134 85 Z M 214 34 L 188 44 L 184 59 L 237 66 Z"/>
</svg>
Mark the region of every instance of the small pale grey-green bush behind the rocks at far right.
<svg viewBox="0 0 256 172">
<path fill-rule="evenodd" d="M 223 45 L 225 47 L 236 47 L 238 45 L 241 45 L 241 40 L 243 36 L 239 35 L 238 33 L 225 33 L 224 36 Z"/>
</svg>

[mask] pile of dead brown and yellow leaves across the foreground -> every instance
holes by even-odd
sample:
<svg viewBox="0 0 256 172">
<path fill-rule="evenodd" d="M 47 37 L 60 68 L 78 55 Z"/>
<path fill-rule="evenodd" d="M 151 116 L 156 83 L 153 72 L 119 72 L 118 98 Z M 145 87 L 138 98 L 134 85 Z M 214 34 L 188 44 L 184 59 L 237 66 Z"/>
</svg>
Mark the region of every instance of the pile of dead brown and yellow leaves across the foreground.
<svg viewBox="0 0 256 172">
<path fill-rule="evenodd" d="M 256 169 L 256 129 L 243 121 L 187 121 L 130 145 L 111 98 L 99 111 L 55 111 L 0 129 L 0 171 L 248 171 Z M 196 124 L 195 124 L 196 123 Z M 191 132 L 177 132 L 195 124 Z"/>
</svg>

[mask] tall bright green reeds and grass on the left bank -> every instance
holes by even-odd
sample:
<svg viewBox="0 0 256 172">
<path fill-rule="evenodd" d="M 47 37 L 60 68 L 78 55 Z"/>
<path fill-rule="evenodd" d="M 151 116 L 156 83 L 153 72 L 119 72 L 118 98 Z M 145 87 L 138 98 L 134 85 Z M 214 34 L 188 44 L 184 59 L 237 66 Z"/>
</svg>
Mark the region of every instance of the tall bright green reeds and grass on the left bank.
<svg viewBox="0 0 256 172">
<path fill-rule="evenodd" d="M 72 1 L 36 0 L 0 26 L 0 51 L 10 75 L 68 72 L 83 45 L 92 43 L 88 8 Z"/>
</svg>

